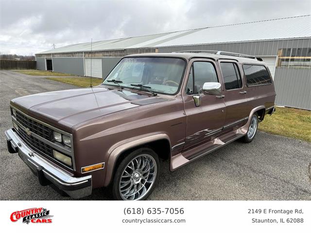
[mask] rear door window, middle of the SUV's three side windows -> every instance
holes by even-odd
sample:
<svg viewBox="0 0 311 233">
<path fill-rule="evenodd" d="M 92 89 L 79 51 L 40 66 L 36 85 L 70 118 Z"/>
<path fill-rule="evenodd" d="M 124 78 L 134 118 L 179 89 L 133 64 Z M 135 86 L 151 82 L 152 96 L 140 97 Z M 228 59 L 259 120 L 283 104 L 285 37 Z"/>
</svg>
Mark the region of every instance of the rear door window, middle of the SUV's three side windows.
<svg viewBox="0 0 311 233">
<path fill-rule="evenodd" d="M 222 70 L 226 90 L 242 88 L 242 80 L 237 64 L 221 62 L 220 68 Z"/>
</svg>

